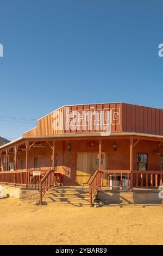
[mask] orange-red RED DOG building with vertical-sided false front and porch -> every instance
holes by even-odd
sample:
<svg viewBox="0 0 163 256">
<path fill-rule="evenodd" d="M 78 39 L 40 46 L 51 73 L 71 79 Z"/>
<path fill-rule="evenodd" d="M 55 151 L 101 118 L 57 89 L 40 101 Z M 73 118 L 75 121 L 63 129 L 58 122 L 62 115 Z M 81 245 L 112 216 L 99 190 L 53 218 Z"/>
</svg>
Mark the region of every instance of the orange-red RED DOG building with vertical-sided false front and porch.
<svg viewBox="0 0 163 256">
<path fill-rule="evenodd" d="M 104 130 L 106 125 L 109 129 Z M 121 176 L 122 186 L 126 174 L 131 190 L 158 187 L 163 173 L 163 109 L 128 103 L 63 106 L 37 120 L 37 127 L 21 138 L 2 145 L 0 156 L 0 182 L 5 184 L 28 187 L 38 170 L 46 177 L 55 173 L 59 185 L 82 185 L 97 170 L 103 186 L 110 185 L 111 174 Z M 91 179 L 96 176 L 94 172 Z"/>
</svg>

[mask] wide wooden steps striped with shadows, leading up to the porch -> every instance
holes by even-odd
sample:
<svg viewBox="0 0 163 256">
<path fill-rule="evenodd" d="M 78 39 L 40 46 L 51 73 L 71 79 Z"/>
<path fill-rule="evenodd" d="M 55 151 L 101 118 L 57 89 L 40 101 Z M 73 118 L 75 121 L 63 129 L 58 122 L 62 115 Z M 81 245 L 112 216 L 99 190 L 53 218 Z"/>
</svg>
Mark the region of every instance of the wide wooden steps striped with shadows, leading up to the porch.
<svg viewBox="0 0 163 256">
<path fill-rule="evenodd" d="M 53 205 L 73 205 L 88 206 L 90 204 L 89 187 L 85 186 L 61 186 L 50 188 L 43 196 L 43 204 Z"/>
</svg>

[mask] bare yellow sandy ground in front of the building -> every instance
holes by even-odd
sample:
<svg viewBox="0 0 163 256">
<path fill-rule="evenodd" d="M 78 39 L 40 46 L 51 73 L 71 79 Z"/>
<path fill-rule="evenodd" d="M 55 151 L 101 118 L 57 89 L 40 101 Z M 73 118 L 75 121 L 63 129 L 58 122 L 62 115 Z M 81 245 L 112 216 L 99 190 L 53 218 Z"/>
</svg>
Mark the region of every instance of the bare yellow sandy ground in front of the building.
<svg viewBox="0 0 163 256">
<path fill-rule="evenodd" d="M 161 206 L 36 206 L 0 199 L 0 245 L 163 245 Z"/>
</svg>

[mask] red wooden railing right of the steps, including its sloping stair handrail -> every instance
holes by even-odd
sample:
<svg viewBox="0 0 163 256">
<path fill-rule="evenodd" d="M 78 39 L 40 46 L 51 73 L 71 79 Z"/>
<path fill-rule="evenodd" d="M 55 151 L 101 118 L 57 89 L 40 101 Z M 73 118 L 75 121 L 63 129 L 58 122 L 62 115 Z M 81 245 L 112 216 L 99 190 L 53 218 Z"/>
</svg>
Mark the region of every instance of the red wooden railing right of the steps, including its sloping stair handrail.
<svg viewBox="0 0 163 256">
<path fill-rule="evenodd" d="M 130 190 L 133 188 L 158 188 L 162 185 L 163 178 L 163 171 L 161 170 L 134 170 L 133 172 L 131 172 L 131 170 L 95 170 L 95 172 L 90 176 L 88 182 L 90 206 L 92 206 L 93 199 L 104 184 L 105 174 L 107 174 L 106 187 L 117 189 L 128 188 Z M 118 181 L 116 180 L 117 176 Z M 112 179 L 112 182 L 110 182 L 110 178 Z M 130 180 L 131 178 L 132 184 Z"/>
</svg>

